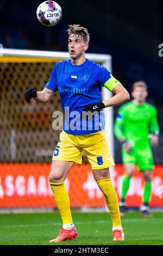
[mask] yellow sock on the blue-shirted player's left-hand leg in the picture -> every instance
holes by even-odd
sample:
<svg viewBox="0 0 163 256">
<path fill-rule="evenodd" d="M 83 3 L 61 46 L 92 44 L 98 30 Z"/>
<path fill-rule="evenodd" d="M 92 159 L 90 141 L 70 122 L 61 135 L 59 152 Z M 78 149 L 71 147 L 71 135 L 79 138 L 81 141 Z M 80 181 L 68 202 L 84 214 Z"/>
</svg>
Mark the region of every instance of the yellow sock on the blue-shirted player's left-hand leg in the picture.
<svg viewBox="0 0 163 256">
<path fill-rule="evenodd" d="M 65 187 L 65 182 L 53 183 L 49 182 L 51 185 L 55 202 L 58 206 L 63 225 L 72 223 L 72 216 L 70 211 L 70 199 Z"/>
</svg>

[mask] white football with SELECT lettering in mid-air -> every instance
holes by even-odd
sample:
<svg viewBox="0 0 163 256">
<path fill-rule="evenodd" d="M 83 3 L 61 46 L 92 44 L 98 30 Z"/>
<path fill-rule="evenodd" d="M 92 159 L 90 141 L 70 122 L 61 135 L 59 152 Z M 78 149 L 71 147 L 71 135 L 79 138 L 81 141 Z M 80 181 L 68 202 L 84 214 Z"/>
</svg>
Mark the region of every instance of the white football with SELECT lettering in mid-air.
<svg viewBox="0 0 163 256">
<path fill-rule="evenodd" d="M 42 25 L 52 27 L 61 20 L 62 9 L 54 1 L 45 1 L 37 8 L 36 15 Z"/>
</svg>

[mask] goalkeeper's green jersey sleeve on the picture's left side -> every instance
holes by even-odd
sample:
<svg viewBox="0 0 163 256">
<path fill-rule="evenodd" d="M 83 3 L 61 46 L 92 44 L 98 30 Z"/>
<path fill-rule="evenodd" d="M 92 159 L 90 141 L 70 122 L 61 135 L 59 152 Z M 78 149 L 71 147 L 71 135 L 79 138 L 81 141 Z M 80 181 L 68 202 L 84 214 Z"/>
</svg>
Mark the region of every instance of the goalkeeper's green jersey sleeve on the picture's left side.
<svg viewBox="0 0 163 256">
<path fill-rule="evenodd" d="M 118 109 L 118 114 L 115 120 L 114 133 L 117 139 L 121 139 L 123 135 L 124 111 L 123 107 Z"/>
</svg>

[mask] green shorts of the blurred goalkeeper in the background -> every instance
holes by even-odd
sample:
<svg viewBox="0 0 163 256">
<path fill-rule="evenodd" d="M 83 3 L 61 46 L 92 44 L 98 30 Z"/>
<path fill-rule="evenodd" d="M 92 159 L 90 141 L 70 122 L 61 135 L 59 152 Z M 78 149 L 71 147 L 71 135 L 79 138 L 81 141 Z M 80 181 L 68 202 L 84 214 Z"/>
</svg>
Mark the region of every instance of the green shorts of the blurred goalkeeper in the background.
<svg viewBox="0 0 163 256">
<path fill-rule="evenodd" d="M 122 149 L 123 164 L 135 163 L 140 171 L 153 170 L 154 161 L 151 147 L 133 148 L 131 153 Z"/>
</svg>

